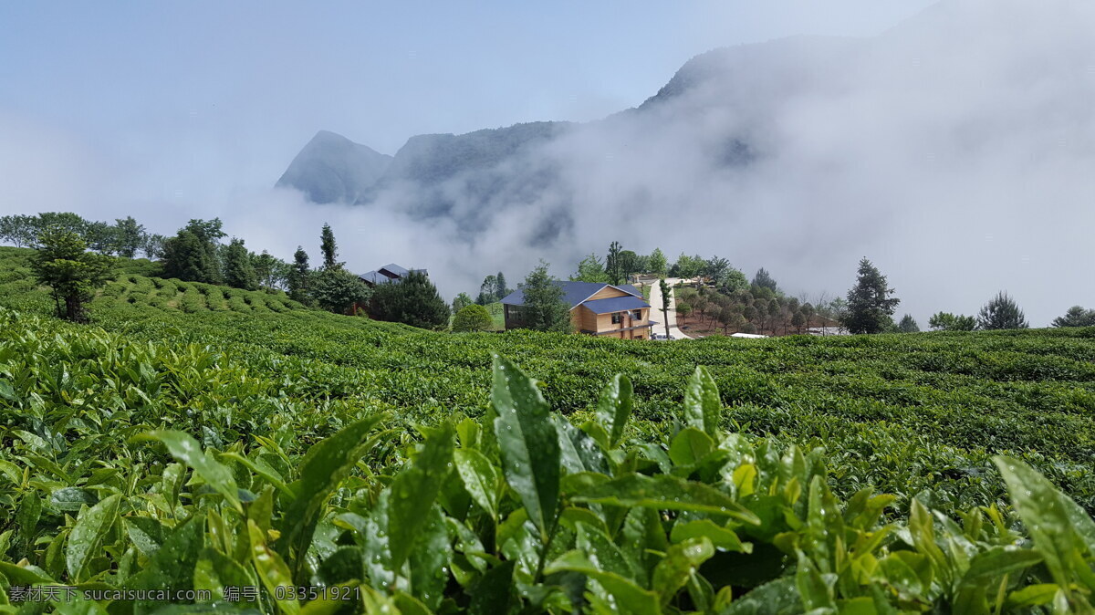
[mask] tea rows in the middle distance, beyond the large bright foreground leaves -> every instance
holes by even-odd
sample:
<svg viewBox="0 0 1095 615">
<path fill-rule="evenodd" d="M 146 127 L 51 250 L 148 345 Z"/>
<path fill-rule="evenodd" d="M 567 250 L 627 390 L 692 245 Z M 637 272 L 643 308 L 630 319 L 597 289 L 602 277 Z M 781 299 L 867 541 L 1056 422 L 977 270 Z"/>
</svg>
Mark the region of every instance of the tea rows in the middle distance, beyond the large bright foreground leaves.
<svg viewBox="0 0 1095 615">
<path fill-rule="evenodd" d="M 28 254 L 0 248 L 0 304 L 47 313 L 48 294 L 27 279 Z M 845 494 L 874 485 L 908 498 L 933 488 L 943 507 L 988 503 L 1002 494 L 989 456 L 1008 452 L 1095 510 L 1095 329 L 668 345 L 448 335 L 303 310 L 279 294 L 148 278 L 140 271 L 150 265 L 139 262 L 126 270 L 92 305 L 97 326 L 134 341 L 212 347 L 245 361 L 253 378 L 286 383 L 295 403 L 335 404 L 323 406 L 332 413 L 385 407 L 425 422 L 477 415 L 498 352 L 569 414 L 589 411 L 600 386 L 626 373 L 644 419 L 636 429 L 671 429 L 685 378 L 704 364 L 731 427 L 825 445 Z"/>
</svg>

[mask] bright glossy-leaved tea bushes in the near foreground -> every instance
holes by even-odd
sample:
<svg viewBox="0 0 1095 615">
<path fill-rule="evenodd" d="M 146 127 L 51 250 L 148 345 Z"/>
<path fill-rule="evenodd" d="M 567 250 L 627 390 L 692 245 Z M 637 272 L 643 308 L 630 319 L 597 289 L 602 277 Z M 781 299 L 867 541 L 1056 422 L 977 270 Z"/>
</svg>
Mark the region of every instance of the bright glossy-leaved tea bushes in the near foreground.
<svg viewBox="0 0 1095 615">
<path fill-rule="evenodd" d="M 424 394 L 362 403 L 335 367 L 228 357 L 168 327 L 172 343 L 141 343 L 0 310 L 5 610 L 168 606 L 7 605 L 60 583 L 203 592 L 187 612 L 1092 612 L 1095 521 L 1011 456 L 986 471 L 1000 502 L 943 512 L 924 491 L 896 510 L 832 483 L 843 455 L 881 445 L 898 462 L 900 442 L 806 450 L 727 430 L 751 405 L 727 407 L 703 368 L 668 420 L 636 422 L 623 375 L 568 420 L 488 357 L 469 418 Z"/>
</svg>

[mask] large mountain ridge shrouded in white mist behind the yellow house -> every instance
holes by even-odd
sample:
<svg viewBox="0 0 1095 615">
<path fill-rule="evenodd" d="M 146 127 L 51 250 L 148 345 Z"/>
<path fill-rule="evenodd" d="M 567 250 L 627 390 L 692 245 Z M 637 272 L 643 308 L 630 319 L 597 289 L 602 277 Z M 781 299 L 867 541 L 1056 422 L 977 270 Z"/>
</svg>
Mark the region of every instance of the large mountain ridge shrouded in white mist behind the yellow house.
<svg viewBox="0 0 1095 615">
<path fill-rule="evenodd" d="M 385 251 L 413 242 L 453 292 L 619 240 L 811 292 L 868 256 L 921 320 L 1007 289 L 1047 323 L 1095 302 L 1046 275 L 1091 264 L 1091 32 L 1092 2 L 949 0 L 873 37 L 715 49 L 598 121 L 412 138 L 346 224 L 383 216 Z"/>
</svg>

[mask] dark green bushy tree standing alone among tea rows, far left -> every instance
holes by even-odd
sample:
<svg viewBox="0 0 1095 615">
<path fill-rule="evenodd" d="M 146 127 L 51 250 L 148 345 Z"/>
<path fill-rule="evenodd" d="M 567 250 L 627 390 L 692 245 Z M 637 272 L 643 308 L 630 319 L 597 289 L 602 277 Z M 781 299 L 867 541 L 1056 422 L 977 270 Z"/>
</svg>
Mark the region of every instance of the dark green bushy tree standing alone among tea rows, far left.
<svg viewBox="0 0 1095 615">
<path fill-rule="evenodd" d="M 112 259 L 88 252 L 79 234 L 59 227 L 46 227 L 35 243 L 31 269 L 39 283 L 53 289 L 58 317 L 87 322 L 85 305 L 106 282 Z"/>
</svg>

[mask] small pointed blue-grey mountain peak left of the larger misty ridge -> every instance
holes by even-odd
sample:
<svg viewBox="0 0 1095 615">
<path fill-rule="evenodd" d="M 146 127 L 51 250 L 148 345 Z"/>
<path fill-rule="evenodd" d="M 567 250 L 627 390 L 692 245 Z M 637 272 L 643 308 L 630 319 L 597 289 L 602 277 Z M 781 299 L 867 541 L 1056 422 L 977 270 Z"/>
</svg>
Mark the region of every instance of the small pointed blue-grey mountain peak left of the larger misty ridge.
<svg viewBox="0 0 1095 615">
<path fill-rule="evenodd" d="M 392 164 L 392 156 L 320 130 L 278 179 L 313 202 L 353 202 L 372 187 Z"/>
</svg>

